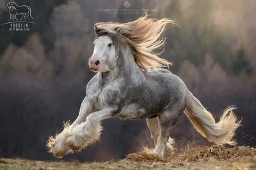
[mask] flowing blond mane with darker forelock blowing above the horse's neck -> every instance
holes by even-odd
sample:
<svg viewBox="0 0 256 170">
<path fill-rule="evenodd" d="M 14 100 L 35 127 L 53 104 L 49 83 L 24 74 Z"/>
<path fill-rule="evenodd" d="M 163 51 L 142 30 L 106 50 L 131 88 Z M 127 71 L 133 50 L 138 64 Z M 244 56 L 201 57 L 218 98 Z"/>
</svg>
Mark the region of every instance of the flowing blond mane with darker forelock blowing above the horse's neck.
<svg viewBox="0 0 256 170">
<path fill-rule="evenodd" d="M 158 67 L 171 66 L 168 60 L 161 59 L 154 50 L 164 45 L 162 37 L 166 24 L 174 24 L 175 21 L 168 18 L 161 20 L 140 17 L 138 20 L 124 24 L 116 22 L 99 22 L 95 24 L 96 38 L 102 34 L 108 34 L 122 43 L 129 43 L 133 48 L 134 58 L 138 66 L 144 71 Z"/>
</svg>

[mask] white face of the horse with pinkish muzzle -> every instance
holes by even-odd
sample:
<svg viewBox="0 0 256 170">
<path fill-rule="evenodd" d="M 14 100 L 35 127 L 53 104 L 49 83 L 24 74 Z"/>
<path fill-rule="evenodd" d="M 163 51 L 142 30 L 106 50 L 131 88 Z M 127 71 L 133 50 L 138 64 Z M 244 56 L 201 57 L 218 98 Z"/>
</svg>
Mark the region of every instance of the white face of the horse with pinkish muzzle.
<svg viewBox="0 0 256 170">
<path fill-rule="evenodd" d="M 93 42 L 94 50 L 90 58 L 90 69 L 106 72 L 115 67 L 115 46 L 108 36 L 100 36 Z M 96 64 L 95 64 L 96 63 Z"/>
</svg>

